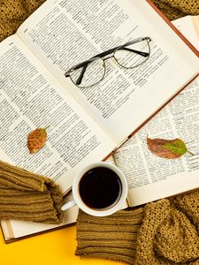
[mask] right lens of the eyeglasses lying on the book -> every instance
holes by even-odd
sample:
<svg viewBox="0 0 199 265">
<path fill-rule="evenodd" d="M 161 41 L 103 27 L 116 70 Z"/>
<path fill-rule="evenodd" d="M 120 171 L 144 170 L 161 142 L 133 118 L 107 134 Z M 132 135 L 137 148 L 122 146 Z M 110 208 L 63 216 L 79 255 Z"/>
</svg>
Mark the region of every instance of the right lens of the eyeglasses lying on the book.
<svg viewBox="0 0 199 265">
<path fill-rule="evenodd" d="M 114 57 L 123 67 L 136 67 L 143 64 L 149 58 L 149 43 L 144 40 L 126 44 L 126 46 L 115 50 Z"/>
</svg>

